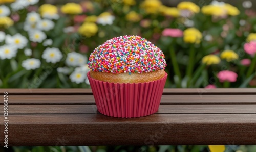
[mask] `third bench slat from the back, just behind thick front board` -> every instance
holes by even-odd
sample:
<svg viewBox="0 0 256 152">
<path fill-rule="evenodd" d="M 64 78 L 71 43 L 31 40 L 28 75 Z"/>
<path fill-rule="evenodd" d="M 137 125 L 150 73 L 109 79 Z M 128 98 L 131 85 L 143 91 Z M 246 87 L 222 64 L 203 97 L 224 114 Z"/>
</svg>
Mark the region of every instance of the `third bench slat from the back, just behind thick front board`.
<svg viewBox="0 0 256 152">
<path fill-rule="evenodd" d="M 4 110 L 0 109 L 3 114 Z M 96 105 L 9 105 L 9 114 L 97 114 Z M 160 105 L 159 114 L 255 113 L 256 105 Z"/>
</svg>

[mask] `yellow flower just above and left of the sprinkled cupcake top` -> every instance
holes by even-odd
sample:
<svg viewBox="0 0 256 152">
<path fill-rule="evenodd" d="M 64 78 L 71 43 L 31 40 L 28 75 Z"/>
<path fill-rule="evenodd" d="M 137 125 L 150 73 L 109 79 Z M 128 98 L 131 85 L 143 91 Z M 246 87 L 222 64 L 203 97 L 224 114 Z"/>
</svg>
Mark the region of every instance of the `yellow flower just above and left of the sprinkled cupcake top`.
<svg viewBox="0 0 256 152">
<path fill-rule="evenodd" d="M 91 37 L 98 32 L 98 26 L 93 22 L 84 22 L 78 32 L 86 37 Z"/>
</svg>

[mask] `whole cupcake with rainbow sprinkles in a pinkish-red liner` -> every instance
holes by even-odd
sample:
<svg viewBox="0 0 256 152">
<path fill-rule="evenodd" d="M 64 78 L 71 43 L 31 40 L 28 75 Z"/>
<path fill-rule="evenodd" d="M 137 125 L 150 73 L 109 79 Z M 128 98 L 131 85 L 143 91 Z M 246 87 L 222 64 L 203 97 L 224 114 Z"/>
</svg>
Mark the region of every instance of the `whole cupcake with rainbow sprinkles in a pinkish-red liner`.
<svg viewBox="0 0 256 152">
<path fill-rule="evenodd" d="M 167 78 L 163 52 L 140 36 L 112 38 L 94 49 L 87 75 L 101 114 L 142 117 L 157 112 Z"/>
</svg>

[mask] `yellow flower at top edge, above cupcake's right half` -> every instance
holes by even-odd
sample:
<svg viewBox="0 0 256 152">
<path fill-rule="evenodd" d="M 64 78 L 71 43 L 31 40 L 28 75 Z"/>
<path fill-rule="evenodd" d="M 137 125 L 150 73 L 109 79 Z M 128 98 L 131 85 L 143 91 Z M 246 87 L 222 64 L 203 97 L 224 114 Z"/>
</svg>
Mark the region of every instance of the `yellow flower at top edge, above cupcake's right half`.
<svg viewBox="0 0 256 152">
<path fill-rule="evenodd" d="M 159 0 L 145 0 L 141 3 L 141 7 L 148 14 L 158 13 L 160 6 L 162 6 L 162 3 Z"/>
</svg>

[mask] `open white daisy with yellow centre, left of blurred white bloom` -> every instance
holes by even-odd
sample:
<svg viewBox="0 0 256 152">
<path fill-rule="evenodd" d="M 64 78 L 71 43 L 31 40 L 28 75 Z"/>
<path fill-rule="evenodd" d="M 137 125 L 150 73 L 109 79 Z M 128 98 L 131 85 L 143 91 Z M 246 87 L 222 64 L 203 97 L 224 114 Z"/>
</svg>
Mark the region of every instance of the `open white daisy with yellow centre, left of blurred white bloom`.
<svg viewBox="0 0 256 152">
<path fill-rule="evenodd" d="M 62 59 L 62 54 L 58 48 L 46 48 L 42 53 L 42 58 L 46 60 L 46 62 L 56 63 Z"/>
</svg>

